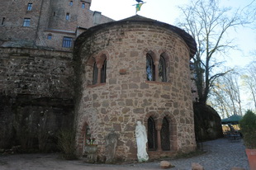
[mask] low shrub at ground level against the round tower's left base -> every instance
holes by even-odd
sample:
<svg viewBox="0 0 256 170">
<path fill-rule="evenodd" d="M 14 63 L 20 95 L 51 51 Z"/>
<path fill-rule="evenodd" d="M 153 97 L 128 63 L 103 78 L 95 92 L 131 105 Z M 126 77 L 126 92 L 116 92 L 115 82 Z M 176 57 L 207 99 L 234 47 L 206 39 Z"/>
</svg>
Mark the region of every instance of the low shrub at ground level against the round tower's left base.
<svg viewBox="0 0 256 170">
<path fill-rule="evenodd" d="M 75 133 L 73 130 L 60 130 L 58 135 L 58 147 L 65 159 L 76 159 L 75 154 Z"/>
</svg>

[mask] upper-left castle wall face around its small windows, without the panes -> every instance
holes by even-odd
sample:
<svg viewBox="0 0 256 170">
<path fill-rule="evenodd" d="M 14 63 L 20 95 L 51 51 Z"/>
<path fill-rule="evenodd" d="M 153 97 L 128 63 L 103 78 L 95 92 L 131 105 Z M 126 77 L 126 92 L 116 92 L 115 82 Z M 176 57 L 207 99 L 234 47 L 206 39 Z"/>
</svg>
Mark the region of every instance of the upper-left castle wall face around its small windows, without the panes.
<svg viewBox="0 0 256 170">
<path fill-rule="evenodd" d="M 27 11 L 27 4 L 33 3 Z M 42 0 L 2 1 L 0 6 L 0 40 L 35 40 Z M 31 26 L 23 26 L 24 18 L 31 18 Z M 1 43 L 1 41 L 0 41 Z M 0 44 L 1 45 L 1 44 Z"/>
</svg>

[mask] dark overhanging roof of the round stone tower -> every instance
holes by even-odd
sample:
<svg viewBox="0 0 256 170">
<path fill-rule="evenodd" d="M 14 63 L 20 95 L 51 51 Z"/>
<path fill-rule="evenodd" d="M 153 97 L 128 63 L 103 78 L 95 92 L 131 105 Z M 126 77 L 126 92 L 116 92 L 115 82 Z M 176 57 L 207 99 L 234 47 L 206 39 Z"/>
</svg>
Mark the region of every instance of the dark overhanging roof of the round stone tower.
<svg viewBox="0 0 256 170">
<path fill-rule="evenodd" d="M 80 47 L 80 45 L 83 44 L 83 40 L 84 38 L 92 35 L 92 33 L 94 33 L 95 31 L 99 31 L 102 28 L 106 28 L 108 26 L 115 26 L 115 25 L 119 25 L 119 24 L 124 24 L 124 23 L 147 23 L 149 25 L 154 25 L 154 26 L 162 26 L 164 28 L 167 28 L 168 30 L 171 30 L 175 33 L 177 33 L 178 35 L 180 35 L 183 40 L 185 40 L 187 46 L 190 49 L 190 57 L 192 58 L 194 56 L 194 54 L 196 54 L 197 52 L 197 43 L 196 41 L 192 38 L 192 35 L 189 35 L 186 31 L 184 31 L 181 28 L 178 28 L 177 26 L 172 26 L 169 25 L 167 23 L 161 22 L 161 21 L 156 21 L 147 17 L 141 17 L 139 15 L 135 15 L 132 17 L 128 17 L 126 19 L 120 20 L 120 21 L 111 21 L 111 22 L 107 22 L 101 25 L 97 25 L 97 26 L 93 26 L 91 28 L 88 29 L 88 31 L 84 31 L 81 35 L 78 36 L 77 40 L 75 41 L 75 49 L 74 52 L 76 52 L 76 50 L 78 50 Z"/>
</svg>

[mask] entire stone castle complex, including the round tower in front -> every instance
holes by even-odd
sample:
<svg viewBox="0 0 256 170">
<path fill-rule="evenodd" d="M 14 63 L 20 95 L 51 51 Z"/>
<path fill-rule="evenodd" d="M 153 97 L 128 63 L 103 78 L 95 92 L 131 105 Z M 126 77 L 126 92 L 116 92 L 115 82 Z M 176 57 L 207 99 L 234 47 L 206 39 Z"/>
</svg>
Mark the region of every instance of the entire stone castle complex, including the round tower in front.
<svg viewBox="0 0 256 170">
<path fill-rule="evenodd" d="M 191 35 L 160 21 L 121 21 L 91 0 L 4 1 L 0 6 L 0 148 L 54 150 L 59 129 L 76 131 L 82 157 L 95 138 L 118 136 L 116 160 L 136 159 L 135 123 L 149 158 L 196 148 Z"/>
</svg>

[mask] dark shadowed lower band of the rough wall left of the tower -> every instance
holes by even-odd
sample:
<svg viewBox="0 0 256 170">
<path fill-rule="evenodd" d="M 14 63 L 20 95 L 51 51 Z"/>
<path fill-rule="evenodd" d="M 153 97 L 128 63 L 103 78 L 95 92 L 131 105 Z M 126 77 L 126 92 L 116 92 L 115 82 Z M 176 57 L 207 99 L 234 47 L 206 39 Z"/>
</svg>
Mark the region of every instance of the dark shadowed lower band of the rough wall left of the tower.
<svg viewBox="0 0 256 170">
<path fill-rule="evenodd" d="M 0 98 L 0 149 L 53 152 L 58 150 L 58 130 L 73 127 L 72 100 L 30 95 Z"/>
</svg>

